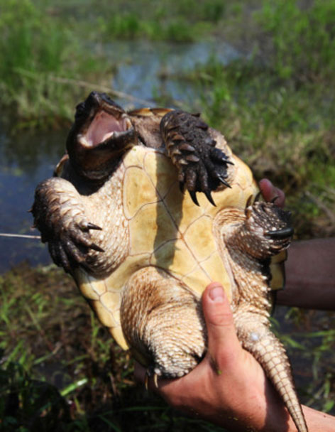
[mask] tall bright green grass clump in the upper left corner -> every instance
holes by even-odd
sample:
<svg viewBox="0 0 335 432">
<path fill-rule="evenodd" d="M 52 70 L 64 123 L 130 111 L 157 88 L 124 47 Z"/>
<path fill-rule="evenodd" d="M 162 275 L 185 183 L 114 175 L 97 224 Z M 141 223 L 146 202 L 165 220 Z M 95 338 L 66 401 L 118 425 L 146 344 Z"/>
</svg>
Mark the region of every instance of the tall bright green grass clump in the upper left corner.
<svg viewBox="0 0 335 432">
<path fill-rule="evenodd" d="M 31 0 L 0 5 L 1 104 L 9 115 L 44 127 L 72 118 L 73 101 L 81 87 L 64 85 L 55 77 L 101 77 L 103 63 L 87 54 L 70 27 L 61 26 L 48 11 Z"/>
</svg>

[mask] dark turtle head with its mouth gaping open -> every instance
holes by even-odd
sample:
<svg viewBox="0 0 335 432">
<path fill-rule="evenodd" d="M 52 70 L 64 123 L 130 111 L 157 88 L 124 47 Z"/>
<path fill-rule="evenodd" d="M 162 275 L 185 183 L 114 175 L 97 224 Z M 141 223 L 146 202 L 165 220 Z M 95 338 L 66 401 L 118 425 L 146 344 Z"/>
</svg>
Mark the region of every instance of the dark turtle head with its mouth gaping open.
<svg viewBox="0 0 335 432">
<path fill-rule="evenodd" d="M 92 92 L 77 105 L 66 146 L 79 175 L 104 180 L 135 144 L 136 132 L 128 115 L 105 93 Z"/>
</svg>

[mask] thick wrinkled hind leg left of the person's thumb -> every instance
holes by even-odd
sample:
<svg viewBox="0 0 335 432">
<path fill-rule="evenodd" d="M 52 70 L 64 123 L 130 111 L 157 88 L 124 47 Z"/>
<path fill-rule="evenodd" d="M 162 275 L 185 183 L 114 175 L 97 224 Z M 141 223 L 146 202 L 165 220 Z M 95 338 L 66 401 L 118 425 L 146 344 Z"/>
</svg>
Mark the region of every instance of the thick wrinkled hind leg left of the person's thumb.
<svg viewBox="0 0 335 432">
<path fill-rule="evenodd" d="M 202 360 L 206 334 L 199 301 L 165 271 L 149 267 L 133 274 L 120 315 L 128 345 L 149 375 L 182 377 Z"/>
</svg>

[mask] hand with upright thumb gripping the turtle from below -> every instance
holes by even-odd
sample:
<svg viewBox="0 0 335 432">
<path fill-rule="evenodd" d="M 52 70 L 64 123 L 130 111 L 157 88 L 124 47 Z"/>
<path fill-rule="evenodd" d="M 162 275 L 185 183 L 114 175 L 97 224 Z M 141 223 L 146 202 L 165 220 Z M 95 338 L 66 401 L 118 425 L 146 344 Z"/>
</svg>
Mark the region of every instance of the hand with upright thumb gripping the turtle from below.
<svg viewBox="0 0 335 432">
<path fill-rule="evenodd" d="M 202 308 L 208 332 L 204 360 L 185 377 L 158 379 L 157 388 L 150 379 L 149 388 L 180 411 L 230 431 L 285 431 L 291 420 L 262 367 L 241 347 L 221 285 L 207 286 Z M 135 374 L 144 382 L 143 367 L 136 365 Z"/>
</svg>

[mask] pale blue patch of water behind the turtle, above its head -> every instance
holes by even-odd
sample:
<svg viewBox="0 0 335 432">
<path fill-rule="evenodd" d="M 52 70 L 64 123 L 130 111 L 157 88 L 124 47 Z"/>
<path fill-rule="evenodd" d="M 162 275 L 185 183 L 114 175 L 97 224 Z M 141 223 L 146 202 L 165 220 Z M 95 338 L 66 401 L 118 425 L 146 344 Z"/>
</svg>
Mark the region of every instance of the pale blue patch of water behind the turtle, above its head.
<svg viewBox="0 0 335 432">
<path fill-rule="evenodd" d="M 105 45 L 104 50 L 111 63 L 118 65 L 113 88 L 141 99 L 168 95 L 177 101 L 192 101 L 196 95 L 192 85 L 173 79 L 173 75 L 187 74 L 211 58 L 225 65 L 241 57 L 235 48 L 221 41 L 178 44 L 114 41 Z"/>
</svg>

